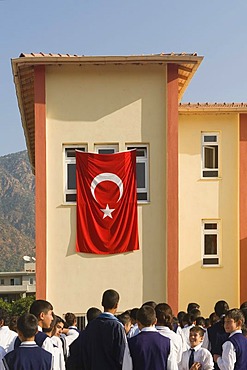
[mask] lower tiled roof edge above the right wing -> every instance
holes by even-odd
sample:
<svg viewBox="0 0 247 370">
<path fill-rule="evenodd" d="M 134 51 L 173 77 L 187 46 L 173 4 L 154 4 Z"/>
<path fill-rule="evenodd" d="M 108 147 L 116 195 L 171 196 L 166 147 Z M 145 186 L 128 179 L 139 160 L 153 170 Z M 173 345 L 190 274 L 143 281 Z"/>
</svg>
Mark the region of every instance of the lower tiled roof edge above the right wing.
<svg viewBox="0 0 247 370">
<path fill-rule="evenodd" d="M 180 103 L 179 113 L 247 112 L 247 103 Z"/>
</svg>

